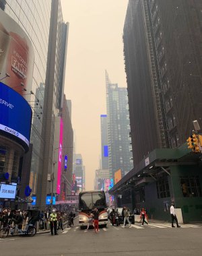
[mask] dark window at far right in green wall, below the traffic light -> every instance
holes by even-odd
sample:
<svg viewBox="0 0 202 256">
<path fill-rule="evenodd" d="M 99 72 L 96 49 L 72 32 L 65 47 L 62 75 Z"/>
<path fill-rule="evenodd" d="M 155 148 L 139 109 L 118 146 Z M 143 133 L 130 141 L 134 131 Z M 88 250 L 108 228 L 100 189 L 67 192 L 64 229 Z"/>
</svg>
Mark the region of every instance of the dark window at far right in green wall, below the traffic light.
<svg viewBox="0 0 202 256">
<path fill-rule="evenodd" d="M 201 186 L 198 176 L 181 177 L 180 185 L 182 197 L 201 197 Z"/>
</svg>

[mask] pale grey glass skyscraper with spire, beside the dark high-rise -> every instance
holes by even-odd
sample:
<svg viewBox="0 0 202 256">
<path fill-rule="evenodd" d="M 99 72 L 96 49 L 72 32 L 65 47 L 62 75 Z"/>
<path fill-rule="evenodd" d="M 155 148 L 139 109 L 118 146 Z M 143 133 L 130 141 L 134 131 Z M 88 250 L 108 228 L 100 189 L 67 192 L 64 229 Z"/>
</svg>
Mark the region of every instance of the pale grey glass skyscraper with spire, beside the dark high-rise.
<svg viewBox="0 0 202 256">
<path fill-rule="evenodd" d="M 121 169 L 122 177 L 133 168 L 127 89 L 112 84 L 106 72 L 108 160 L 110 179 Z"/>
</svg>

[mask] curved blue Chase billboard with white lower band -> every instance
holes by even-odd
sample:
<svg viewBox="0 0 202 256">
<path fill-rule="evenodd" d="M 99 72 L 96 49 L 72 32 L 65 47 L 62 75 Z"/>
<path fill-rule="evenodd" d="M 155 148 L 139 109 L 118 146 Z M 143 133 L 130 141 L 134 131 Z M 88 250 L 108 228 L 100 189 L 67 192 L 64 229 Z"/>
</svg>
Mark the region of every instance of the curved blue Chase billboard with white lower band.
<svg viewBox="0 0 202 256">
<path fill-rule="evenodd" d="M 0 82 L 0 130 L 29 146 L 32 108 L 9 86 Z"/>
</svg>

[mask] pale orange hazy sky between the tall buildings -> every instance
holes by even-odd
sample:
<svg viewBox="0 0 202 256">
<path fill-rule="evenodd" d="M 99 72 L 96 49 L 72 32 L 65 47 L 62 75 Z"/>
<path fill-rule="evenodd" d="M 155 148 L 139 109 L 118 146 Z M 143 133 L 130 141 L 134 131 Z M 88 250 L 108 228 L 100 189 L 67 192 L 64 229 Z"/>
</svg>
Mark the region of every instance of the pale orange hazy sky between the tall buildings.
<svg viewBox="0 0 202 256">
<path fill-rule="evenodd" d="M 72 103 L 75 152 L 86 166 L 86 189 L 94 188 L 100 159 L 100 114 L 106 114 L 105 69 L 126 86 L 123 26 L 128 0 L 61 0 L 69 22 L 65 94 Z"/>
</svg>

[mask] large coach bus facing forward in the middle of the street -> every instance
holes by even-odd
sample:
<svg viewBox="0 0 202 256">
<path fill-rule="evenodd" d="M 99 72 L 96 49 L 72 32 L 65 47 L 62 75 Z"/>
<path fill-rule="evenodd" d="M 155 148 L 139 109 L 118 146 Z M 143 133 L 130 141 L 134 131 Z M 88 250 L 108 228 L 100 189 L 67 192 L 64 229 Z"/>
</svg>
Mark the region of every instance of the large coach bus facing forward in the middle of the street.
<svg viewBox="0 0 202 256">
<path fill-rule="evenodd" d="M 99 212 L 99 226 L 106 227 L 108 218 L 106 211 L 106 197 L 104 191 L 83 191 L 79 193 L 79 226 L 81 229 L 88 225 L 88 216 L 97 208 Z"/>
</svg>

